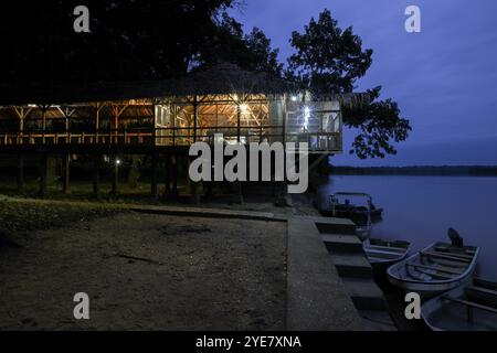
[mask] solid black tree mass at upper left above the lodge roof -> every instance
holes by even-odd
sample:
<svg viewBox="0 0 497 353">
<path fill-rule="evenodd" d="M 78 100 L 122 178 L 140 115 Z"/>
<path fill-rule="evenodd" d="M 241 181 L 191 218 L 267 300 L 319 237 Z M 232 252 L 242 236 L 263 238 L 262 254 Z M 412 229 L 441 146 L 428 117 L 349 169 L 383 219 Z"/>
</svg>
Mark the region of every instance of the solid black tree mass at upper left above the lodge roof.
<svg viewBox="0 0 497 353">
<path fill-rule="evenodd" d="M 0 3 L 2 83 L 160 79 L 188 72 L 234 0 L 46 0 Z M 73 31 L 89 9 L 91 33 Z"/>
</svg>

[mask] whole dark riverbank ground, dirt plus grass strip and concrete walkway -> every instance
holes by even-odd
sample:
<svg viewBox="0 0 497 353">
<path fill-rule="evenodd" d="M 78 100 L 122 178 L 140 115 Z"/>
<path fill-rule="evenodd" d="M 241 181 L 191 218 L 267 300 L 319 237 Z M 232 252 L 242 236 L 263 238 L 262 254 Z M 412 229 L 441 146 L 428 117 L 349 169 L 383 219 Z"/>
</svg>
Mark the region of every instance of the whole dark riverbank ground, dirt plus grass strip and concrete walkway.
<svg viewBox="0 0 497 353">
<path fill-rule="evenodd" d="M 297 229 L 289 220 L 315 213 L 305 200 L 283 208 L 267 203 L 212 208 L 2 197 L 9 210 L 3 214 L 23 210 L 13 220 L 59 213 L 61 221 L 41 222 L 39 229 L 36 222 L 23 228 L 15 221 L 4 237 L 0 292 L 8 304 L 0 308 L 0 329 L 370 328 L 316 227 L 293 232 L 288 240 L 290 228 Z M 94 213 L 82 216 L 93 206 Z M 295 246 L 299 237 L 310 243 Z M 81 291 L 91 298 L 89 321 L 73 318 L 73 297 Z"/>
</svg>

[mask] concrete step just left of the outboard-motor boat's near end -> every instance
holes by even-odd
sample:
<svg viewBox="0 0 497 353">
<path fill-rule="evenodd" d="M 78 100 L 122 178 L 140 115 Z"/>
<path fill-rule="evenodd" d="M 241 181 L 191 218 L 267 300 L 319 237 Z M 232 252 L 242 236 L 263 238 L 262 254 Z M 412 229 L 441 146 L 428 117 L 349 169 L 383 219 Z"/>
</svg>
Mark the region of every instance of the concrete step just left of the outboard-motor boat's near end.
<svg viewBox="0 0 497 353">
<path fill-rule="evenodd" d="M 358 310 L 385 310 L 387 300 L 372 279 L 342 277 L 343 285 Z"/>
</svg>

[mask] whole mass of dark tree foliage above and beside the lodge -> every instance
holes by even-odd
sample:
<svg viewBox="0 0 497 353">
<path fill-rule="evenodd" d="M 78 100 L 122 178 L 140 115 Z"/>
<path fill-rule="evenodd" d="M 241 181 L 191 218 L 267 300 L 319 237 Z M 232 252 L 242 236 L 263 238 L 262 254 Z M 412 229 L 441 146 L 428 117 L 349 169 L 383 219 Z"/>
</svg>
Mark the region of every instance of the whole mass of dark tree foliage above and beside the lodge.
<svg viewBox="0 0 497 353">
<path fill-rule="evenodd" d="M 89 9 L 91 33 L 73 30 L 76 6 Z M 0 81 L 6 89 L 163 79 L 229 62 L 295 81 L 319 96 L 353 93 L 371 66 L 372 50 L 362 49 L 352 28 L 342 30 L 324 10 L 304 32 L 292 33 L 295 53 L 285 67 L 263 31 L 245 33 L 230 17 L 229 9 L 239 6 L 236 0 L 1 1 Z M 359 130 L 350 153 L 361 159 L 394 154 L 410 122 L 393 99 L 380 99 L 380 86 L 368 93 L 370 104 L 343 107 L 345 125 Z"/>
</svg>

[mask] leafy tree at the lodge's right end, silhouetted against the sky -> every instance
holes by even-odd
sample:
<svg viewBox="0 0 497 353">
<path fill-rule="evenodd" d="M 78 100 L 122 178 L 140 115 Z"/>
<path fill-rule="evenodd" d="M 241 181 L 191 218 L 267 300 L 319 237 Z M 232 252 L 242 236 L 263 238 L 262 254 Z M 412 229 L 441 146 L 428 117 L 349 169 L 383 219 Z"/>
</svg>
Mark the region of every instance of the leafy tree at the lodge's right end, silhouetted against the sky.
<svg viewBox="0 0 497 353">
<path fill-rule="evenodd" d="M 362 41 L 352 28 L 341 30 L 329 10 L 321 12 L 318 21 L 311 19 L 303 34 L 293 32 L 290 44 L 296 52 L 288 58 L 286 76 L 317 97 L 352 93 L 372 63 L 372 50 L 362 50 Z M 343 107 L 343 124 L 359 129 L 350 153 L 361 159 L 394 154 L 391 142 L 408 138 L 409 120 L 400 117 L 394 100 L 379 100 L 380 86 L 367 93 L 370 104 Z"/>
</svg>

